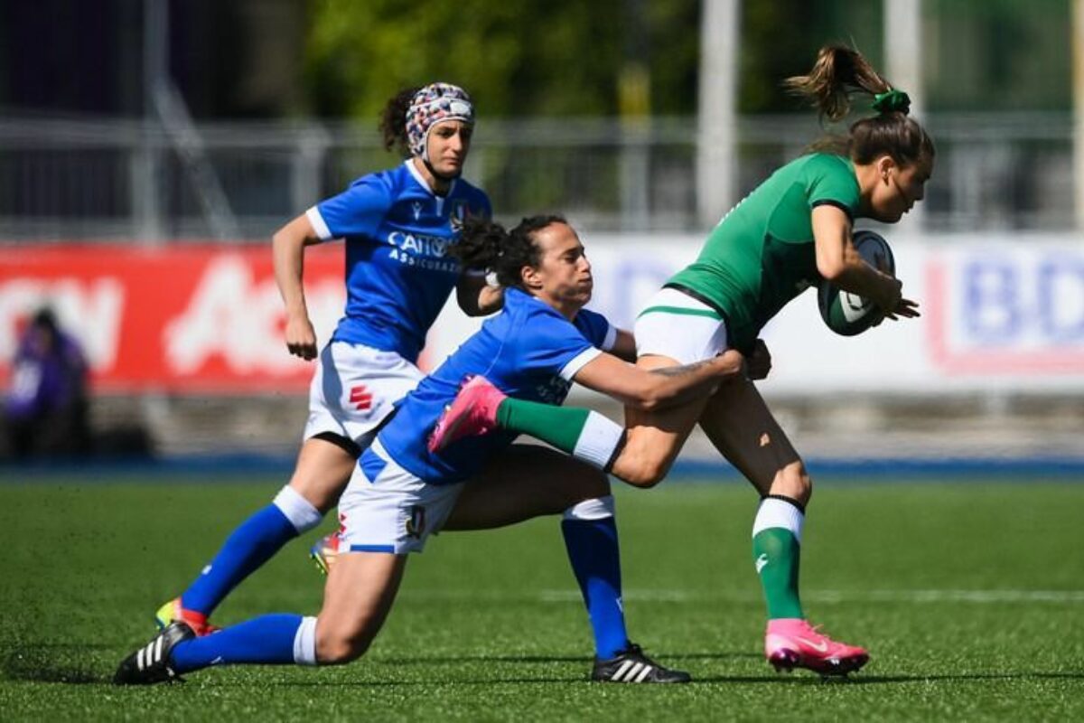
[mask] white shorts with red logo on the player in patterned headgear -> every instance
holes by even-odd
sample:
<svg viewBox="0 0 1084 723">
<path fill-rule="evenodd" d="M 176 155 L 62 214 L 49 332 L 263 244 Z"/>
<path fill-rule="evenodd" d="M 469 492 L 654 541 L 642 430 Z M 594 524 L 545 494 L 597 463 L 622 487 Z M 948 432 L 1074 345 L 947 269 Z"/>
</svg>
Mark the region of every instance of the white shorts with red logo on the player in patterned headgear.
<svg viewBox="0 0 1084 723">
<path fill-rule="evenodd" d="M 332 341 L 320 352 L 309 387 L 305 439 L 333 432 L 369 447 L 373 432 L 425 375 L 393 351 Z"/>
</svg>

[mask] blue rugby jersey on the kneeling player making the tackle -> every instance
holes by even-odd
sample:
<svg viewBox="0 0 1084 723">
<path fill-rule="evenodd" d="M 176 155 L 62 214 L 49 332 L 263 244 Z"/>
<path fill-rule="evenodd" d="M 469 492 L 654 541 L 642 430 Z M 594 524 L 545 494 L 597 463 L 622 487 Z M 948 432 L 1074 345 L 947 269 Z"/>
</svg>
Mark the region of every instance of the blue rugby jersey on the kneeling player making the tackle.
<svg viewBox="0 0 1084 723">
<path fill-rule="evenodd" d="M 517 435 L 496 430 L 429 453 L 429 432 L 466 375 L 481 374 L 511 397 L 560 404 L 576 373 L 601 349 L 611 348 L 616 338 L 617 330 L 602 314 L 582 309 L 569 322 L 533 296 L 506 289 L 501 313 L 486 320 L 399 403 L 398 412 L 379 434 L 380 444 L 399 466 L 426 482 L 448 485 L 467 479 Z"/>
</svg>

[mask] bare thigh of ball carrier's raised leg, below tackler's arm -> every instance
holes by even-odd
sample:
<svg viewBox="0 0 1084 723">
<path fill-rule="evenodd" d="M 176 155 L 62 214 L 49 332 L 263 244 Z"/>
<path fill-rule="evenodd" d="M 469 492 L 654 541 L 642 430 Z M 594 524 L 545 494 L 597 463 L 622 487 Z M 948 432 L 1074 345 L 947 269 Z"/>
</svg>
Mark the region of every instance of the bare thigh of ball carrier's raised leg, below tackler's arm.
<svg viewBox="0 0 1084 723">
<path fill-rule="evenodd" d="M 669 357 L 645 354 L 636 360 L 644 370 L 679 366 Z M 625 444 L 611 472 L 636 487 L 653 487 L 666 477 L 678 453 L 696 426 L 707 398 L 661 412 L 625 408 Z"/>
</svg>

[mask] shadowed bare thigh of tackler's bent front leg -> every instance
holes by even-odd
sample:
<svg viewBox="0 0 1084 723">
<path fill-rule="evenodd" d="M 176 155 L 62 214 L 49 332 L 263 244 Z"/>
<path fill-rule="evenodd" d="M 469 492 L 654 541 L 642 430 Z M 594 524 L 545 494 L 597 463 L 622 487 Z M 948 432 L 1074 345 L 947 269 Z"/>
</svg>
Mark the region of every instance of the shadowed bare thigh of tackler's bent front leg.
<svg viewBox="0 0 1084 723">
<path fill-rule="evenodd" d="M 513 444 L 464 486 L 443 529 L 504 527 L 609 493 L 601 470 L 547 447 Z"/>
</svg>

